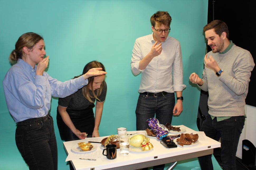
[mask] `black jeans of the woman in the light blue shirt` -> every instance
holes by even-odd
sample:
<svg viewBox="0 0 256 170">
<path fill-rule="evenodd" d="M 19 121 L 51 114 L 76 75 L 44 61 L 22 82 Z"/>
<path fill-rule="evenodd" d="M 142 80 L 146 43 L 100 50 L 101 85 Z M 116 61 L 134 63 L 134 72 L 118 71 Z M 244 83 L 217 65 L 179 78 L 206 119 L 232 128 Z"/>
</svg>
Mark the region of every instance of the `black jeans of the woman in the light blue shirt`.
<svg viewBox="0 0 256 170">
<path fill-rule="evenodd" d="M 15 141 L 29 169 L 58 169 L 57 143 L 50 114 L 18 122 Z"/>
</svg>

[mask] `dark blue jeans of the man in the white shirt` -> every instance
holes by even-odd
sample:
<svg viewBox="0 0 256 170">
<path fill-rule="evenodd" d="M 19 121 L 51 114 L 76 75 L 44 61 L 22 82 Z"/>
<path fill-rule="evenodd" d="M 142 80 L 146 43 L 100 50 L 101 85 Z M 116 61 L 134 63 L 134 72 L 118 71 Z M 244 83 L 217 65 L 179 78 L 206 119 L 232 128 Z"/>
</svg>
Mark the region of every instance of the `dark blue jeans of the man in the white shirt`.
<svg viewBox="0 0 256 170">
<path fill-rule="evenodd" d="M 174 93 L 167 93 L 164 96 L 154 97 L 139 95 L 136 107 L 136 130 L 149 128 L 147 120 L 155 117 L 160 124 L 172 123 L 173 108 L 175 105 Z M 147 168 L 146 168 L 147 169 Z M 154 170 L 163 170 L 164 164 L 154 166 Z"/>
</svg>

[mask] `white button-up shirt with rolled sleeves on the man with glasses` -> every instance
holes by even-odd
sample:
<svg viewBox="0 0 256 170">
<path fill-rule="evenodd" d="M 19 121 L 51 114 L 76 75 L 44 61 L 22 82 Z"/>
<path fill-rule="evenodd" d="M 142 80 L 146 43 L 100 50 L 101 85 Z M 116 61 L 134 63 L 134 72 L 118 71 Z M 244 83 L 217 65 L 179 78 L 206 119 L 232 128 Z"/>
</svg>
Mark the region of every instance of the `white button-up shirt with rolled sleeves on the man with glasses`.
<svg viewBox="0 0 256 170">
<path fill-rule="evenodd" d="M 131 71 L 134 75 L 141 73 L 139 92 L 158 93 L 182 91 L 183 66 L 181 45 L 173 37 L 162 42 L 162 52 L 154 57 L 144 70 L 139 70 L 140 61 L 150 52 L 155 40 L 153 33 L 137 38 L 132 50 Z"/>
</svg>

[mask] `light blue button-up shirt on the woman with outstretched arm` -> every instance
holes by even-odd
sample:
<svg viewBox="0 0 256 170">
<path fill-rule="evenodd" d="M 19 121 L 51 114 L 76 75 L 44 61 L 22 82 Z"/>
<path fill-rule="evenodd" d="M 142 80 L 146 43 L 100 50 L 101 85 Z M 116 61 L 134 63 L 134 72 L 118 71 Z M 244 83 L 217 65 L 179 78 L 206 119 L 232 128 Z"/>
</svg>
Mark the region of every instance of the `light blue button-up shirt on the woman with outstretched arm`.
<svg viewBox="0 0 256 170">
<path fill-rule="evenodd" d="M 83 76 L 65 82 L 53 79 L 46 72 L 36 75 L 36 66 L 18 59 L 6 73 L 3 89 L 6 104 L 15 123 L 46 116 L 51 106 L 51 96 L 66 97 L 88 84 Z"/>
</svg>

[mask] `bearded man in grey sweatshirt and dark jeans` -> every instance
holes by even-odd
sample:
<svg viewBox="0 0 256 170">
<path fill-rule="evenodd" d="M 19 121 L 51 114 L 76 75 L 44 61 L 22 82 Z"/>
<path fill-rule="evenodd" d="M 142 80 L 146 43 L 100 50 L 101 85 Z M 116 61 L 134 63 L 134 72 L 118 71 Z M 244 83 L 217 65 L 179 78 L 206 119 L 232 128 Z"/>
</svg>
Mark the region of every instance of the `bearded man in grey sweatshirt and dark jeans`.
<svg viewBox="0 0 256 170">
<path fill-rule="evenodd" d="M 248 93 L 254 61 L 249 51 L 229 40 L 226 23 L 214 20 L 203 28 L 212 51 L 204 58 L 202 79 L 195 73 L 189 80 L 208 91 L 208 115 L 201 131 L 219 140 L 221 137 L 221 166 L 236 169 L 235 155 L 245 121 L 245 98 Z M 201 169 L 213 169 L 211 155 L 199 157 Z"/>
</svg>

